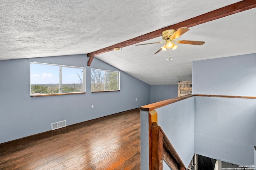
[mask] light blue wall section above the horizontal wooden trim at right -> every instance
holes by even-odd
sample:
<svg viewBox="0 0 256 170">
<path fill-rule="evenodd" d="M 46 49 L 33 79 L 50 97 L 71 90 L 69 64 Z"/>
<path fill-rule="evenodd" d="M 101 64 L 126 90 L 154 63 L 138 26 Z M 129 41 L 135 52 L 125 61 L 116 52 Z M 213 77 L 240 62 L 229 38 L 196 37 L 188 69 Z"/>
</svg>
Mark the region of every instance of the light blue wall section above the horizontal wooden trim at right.
<svg viewBox="0 0 256 170">
<path fill-rule="evenodd" d="M 256 96 L 256 53 L 193 61 L 193 94 Z"/>
</svg>

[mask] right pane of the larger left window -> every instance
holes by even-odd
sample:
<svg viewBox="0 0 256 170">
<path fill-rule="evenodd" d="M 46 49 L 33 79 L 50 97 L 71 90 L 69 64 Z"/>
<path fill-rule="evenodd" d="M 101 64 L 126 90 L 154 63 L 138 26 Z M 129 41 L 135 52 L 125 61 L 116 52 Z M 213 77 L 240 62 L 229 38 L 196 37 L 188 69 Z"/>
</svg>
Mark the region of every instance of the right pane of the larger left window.
<svg viewBox="0 0 256 170">
<path fill-rule="evenodd" d="M 83 70 L 62 66 L 62 93 L 83 92 Z"/>
</svg>

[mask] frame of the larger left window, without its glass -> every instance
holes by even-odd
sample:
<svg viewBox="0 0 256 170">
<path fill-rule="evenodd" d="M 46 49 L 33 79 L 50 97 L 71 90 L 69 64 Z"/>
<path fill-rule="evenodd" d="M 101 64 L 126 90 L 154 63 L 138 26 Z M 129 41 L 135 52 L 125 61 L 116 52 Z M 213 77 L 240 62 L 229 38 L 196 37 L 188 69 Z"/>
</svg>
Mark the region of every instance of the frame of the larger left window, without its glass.
<svg viewBox="0 0 256 170">
<path fill-rule="evenodd" d="M 53 94 L 38 94 L 38 95 L 31 95 L 31 64 L 44 64 L 44 65 L 52 65 L 52 66 L 58 66 L 59 67 L 59 93 L 53 93 Z M 83 91 L 82 92 L 62 92 L 62 67 L 66 68 L 79 68 L 83 70 Z M 39 96 L 59 96 L 59 95 L 69 95 L 69 94 L 85 94 L 85 75 L 86 75 L 86 69 L 85 67 L 79 67 L 79 66 L 67 66 L 67 65 L 60 65 L 60 64 L 49 64 L 49 63 L 39 63 L 36 61 L 30 61 L 29 62 L 29 82 L 30 82 L 30 97 L 39 97 Z"/>
</svg>

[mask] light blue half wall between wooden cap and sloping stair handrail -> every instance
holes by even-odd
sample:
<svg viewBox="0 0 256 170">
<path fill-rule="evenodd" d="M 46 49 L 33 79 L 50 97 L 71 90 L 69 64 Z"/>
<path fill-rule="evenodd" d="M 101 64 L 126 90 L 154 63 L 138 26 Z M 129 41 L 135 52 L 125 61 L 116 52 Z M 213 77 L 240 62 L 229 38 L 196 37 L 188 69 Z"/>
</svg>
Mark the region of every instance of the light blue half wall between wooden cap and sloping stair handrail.
<svg viewBox="0 0 256 170">
<path fill-rule="evenodd" d="M 194 97 L 156 109 L 158 125 L 188 167 L 194 156 Z"/>
</svg>

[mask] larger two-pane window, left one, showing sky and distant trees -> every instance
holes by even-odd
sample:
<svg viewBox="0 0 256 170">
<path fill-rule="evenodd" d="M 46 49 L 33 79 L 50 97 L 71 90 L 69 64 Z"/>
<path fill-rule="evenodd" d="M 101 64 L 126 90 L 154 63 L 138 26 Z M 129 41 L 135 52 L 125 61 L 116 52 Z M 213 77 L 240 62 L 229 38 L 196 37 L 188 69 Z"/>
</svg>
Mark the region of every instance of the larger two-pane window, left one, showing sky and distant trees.
<svg viewBox="0 0 256 170">
<path fill-rule="evenodd" d="M 30 62 L 30 96 L 84 93 L 85 68 Z"/>
</svg>

